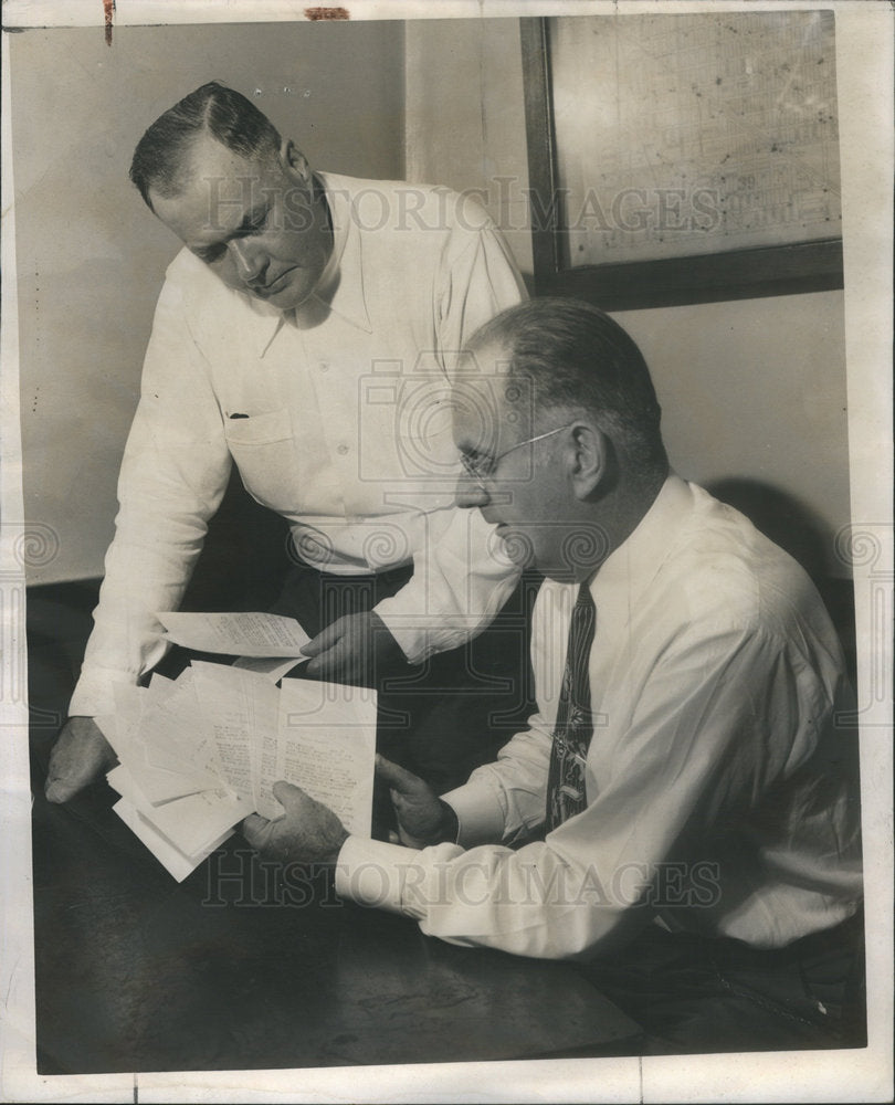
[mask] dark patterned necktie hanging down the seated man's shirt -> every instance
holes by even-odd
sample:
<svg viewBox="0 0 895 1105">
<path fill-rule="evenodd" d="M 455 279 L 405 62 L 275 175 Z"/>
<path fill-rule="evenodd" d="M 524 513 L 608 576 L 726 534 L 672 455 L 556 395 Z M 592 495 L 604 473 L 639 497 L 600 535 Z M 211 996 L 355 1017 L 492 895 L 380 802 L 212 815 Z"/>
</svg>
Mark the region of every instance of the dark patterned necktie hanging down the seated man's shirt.
<svg viewBox="0 0 895 1105">
<path fill-rule="evenodd" d="M 572 610 L 566 671 L 554 729 L 550 774 L 547 779 L 547 832 L 587 806 L 585 759 L 593 736 L 590 708 L 590 648 L 597 625 L 597 608 L 590 588 L 582 583 Z"/>
</svg>

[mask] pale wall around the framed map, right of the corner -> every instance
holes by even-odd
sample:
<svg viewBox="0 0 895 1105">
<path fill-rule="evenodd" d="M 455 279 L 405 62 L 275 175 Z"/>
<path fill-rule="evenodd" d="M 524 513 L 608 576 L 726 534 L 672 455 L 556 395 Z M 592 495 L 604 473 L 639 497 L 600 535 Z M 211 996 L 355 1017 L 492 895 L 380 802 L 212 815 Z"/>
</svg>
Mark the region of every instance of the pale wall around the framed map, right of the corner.
<svg viewBox="0 0 895 1105">
<path fill-rule="evenodd" d="M 408 172 L 480 189 L 530 275 L 518 21 L 419 22 L 406 42 Z M 768 503 L 817 534 L 825 570 L 845 575 L 833 546 L 850 517 L 842 293 L 615 317 L 651 367 L 675 467 L 767 485 Z"/>
</svg>

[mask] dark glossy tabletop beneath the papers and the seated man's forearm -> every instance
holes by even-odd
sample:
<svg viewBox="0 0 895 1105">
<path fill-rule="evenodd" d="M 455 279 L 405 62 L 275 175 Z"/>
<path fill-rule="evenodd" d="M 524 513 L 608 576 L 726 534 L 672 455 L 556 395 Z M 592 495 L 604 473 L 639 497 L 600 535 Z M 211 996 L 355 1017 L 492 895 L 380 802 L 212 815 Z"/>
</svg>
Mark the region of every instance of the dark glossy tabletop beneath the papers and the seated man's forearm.
<svg viewBox="0 0 895 1105">
<path fill-rule="evenodd" d="M 46 737 L 42 743 L 46 744 Z M 178 884 L 105 783 L 33 808 L 38 1070 L 255 1070 L 629 1054 L 569 964 L 459 948 L 241 836 Z"/>
</svg>

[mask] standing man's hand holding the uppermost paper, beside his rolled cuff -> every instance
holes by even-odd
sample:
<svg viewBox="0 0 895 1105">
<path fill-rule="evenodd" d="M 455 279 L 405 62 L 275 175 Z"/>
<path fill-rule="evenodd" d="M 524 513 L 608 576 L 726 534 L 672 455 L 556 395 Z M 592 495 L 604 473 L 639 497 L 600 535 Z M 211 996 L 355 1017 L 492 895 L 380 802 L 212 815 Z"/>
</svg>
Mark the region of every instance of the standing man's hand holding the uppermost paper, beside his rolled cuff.
<svg viewBox="0 0 895 1105">
<path fill-rule="evenodd" d="M 302 649 L 313 657 L 305 672 L 330 683 L 375 686 L 376 680 L 403 659 L 400 645 L 373 611 L 346 614 Z"/>
</svg>

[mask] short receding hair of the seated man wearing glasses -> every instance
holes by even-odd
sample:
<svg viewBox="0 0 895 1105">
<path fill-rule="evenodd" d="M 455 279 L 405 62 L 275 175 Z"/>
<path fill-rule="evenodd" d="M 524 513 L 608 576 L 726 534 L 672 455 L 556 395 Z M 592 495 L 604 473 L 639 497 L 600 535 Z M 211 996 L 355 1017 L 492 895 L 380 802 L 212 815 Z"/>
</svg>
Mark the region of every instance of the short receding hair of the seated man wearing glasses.
<svg viewBox="0 0 895 1105">
<path fill-rule="evenodd" d="M 634 340 L 604 312 L 580 299 L 537 298 L 496 315 L 473 350 L 505 346 L 509 373 L 530 381 L 535 410 L 583 408 L 628 457 L 632 474 L 663 475 L 662 408 Z"/>
</svg>

